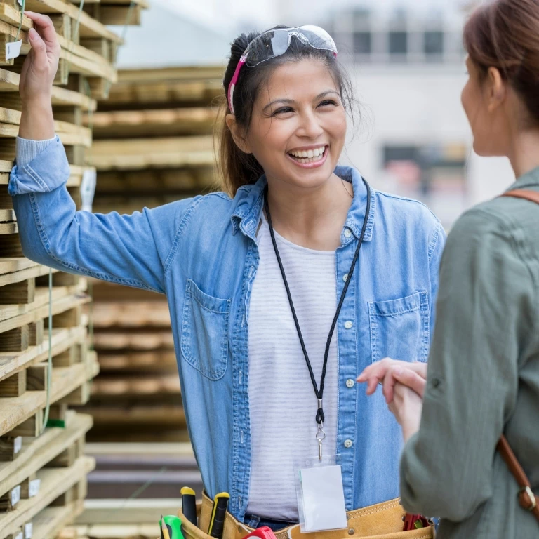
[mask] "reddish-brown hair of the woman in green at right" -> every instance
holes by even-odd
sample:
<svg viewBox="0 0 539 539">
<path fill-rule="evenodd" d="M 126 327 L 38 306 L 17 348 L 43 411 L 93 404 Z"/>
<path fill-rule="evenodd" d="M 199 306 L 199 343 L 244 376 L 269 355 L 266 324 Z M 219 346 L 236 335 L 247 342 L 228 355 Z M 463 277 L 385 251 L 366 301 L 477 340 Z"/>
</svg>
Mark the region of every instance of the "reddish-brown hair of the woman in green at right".
<svg viewBox="0 0 539 539">
<path fill-rule="evenodd" d="M 538 125 L 539 0 L 488 1 L 467 21 L 464 46 L 482 76 L 489 67 L 500 71 Z"/>
</svg>

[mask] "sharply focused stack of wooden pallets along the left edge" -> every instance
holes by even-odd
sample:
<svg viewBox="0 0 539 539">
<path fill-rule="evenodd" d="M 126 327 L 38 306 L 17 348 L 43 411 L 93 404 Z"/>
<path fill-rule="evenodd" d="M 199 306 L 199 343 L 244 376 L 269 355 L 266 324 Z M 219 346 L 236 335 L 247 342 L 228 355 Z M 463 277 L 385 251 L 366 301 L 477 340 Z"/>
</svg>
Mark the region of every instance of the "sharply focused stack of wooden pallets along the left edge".
<svg viewBox="0 0 539 539">
<path fill-rule="evenodd" d="M 106 4 L 126 10 L 121 0 Z M 81 182 L 92 173 L 85 158 L 92 135 L 83 115 L 95 111 L 95 98 L 104 98 L 117 80 L 113 60 L 121 38 L 73 1 L 26 0 L 25 8 L 50 15 L 59 34 L 55 131 L 70 164 L 67 187 L 80 207 Z M 6 43 L 15 41 L 19 25 L 22 55 L 8 60 Z M 0 1 L 0 539 L 54 538 L 81 512 L 86 476 L 95 466 L 84 455 L 93 419 L 68 409 L 88 401 L 99 371 L 83 312 L 90 301 L 87 282 L 52 270 L 49 288 L 49 268 L 22 253 L 7 193 L 30 27 L 31 20 L 21 19 L 18 0 Z"/>
</svg>

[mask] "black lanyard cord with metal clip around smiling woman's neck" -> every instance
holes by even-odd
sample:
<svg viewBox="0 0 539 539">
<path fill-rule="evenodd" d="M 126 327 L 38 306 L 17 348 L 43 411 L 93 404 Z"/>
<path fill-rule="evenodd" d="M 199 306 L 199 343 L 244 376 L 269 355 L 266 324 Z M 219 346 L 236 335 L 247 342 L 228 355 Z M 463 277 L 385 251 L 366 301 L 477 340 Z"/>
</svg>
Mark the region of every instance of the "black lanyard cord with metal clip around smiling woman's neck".
<svg viewBox="0 0 539 539">
<path fill-rule="evenodd" d="M 361 249 L 361 245 L 363 244 L 363 239 L 365 237 L 365 230 L 366 230 L 367 222 L 368 222 L 368 214 L 371 211 L 371 187 L 368 185 L 366 180 L 364 180 L 364 178 L 361 178 L 361 179 L 363 180 L 365 187 L 367 188 L 367 207 L 365 211 L 365 218 L 363 220 L 363 227 L 361 228 L 361 234 L 359 235 L 359 241 L 357 242 L 356 252 L 354 253 L 354 258 L 352 259 L 352 265 L 350 265 L 350 271 L 348 272 L 348 277 L 345 281 L 345 287 L 342 288 L 342 294 L 340 295 L 340 300 L 337 305 L 337 310 L 335 311 L 335 316 L 333 317 L 333 321 L 331 322 L 331 328 L 329 330 L 328 340 L 326 341 L 326 350 L 324 352 L 324 366 L 322 367 L 322 375 L 321 375 L 321 380 L 320 380 L 320 390 L 318 389 L 317 380 L 315 380 L 314 373 L 312 372 L 311 361 L 309 359 L 309 355 L 307 354 L 307 348 L 305 348 L 305 342 L 303 342 L 303 336 L 301 334 L 300 323 L 298 322 L 298 317 L 295 314 L 294 302 L 292 301 L 292 295 L 290 293 L 290 288 L 288 287 L 288 281 L 286 279 L 286 274 L 284 272 L 283 262 L 281 261 L 281 255 L 279 255 L 279 249 L 277 248 L 277 241 L 275 241 L 275 234 L 274 234 L 273 225 L 272 225 L 272 216 L 270 215 L 270 204 L 268 204 L 268 201 L 267 201 L 267 191 L 268 191 L 267 185 L 264 191 L 264 209 L 266 211 L 267 224 L 270 227 L 270 235 L 272 237 L 272 243 L 273 243 L 273 248 L 275 251 L 275 256 L 277 256 L 279 269 L 281 270 L 281 275 L 283 276 L 284 288 L 286 288 L 286 295 L 288 295 L 288 302 L 290 303 L 290 308 L 292 310 L 292 316 L 294 318 L 295 329 L 296 331 L 298 331 L 298 337 L 300 338 L 301 350 L 303 350 L 303 355 L 305 356 L 305 361 L 307 362 L 307 368 L 309 369 L 312 387 L 314 387 L 314 394 L 316 394 L 317 400 L 318 400 L 318 410 L 317 410 L 316 421 L 318 424 L 317 440 L 319 443 L 320 460 L 322 458 L 322 440 L 326 437 L 325 432 L 322 430 L 322 427 L 324 425 L 324 408 L 322 406 L 322 396 L 324 394 L 324 380 L 326 380 L 326 368 L 328 366 L 329 346 L 331 344 L 331 337 L 333 336 L 333 331 L 335 331 L 335 326 L 337 325 L 337 320 L 339 317 L 340 309 L 342 307 L 342 303 L 345 301 L 346 291 L 348 290 L 350 281 L 352 281 L 352 274 L 354 273 L 354 267 L 356 266 L 357 258 L 359 257 L 359 249 Z"/>
</svg>

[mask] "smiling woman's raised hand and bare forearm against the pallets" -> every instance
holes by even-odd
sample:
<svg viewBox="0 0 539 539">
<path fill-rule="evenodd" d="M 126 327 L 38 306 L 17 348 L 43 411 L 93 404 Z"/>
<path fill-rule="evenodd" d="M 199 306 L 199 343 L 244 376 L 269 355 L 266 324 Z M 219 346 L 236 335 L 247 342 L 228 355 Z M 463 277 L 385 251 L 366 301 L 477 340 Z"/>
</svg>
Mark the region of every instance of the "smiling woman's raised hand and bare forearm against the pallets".
<svg viewBox="0 0 539 539">
<path fill-rule="evenodd" d="M 47 15 L 25 11 L 34 28 L 28 37 L 32 50 L 20 73 L 19 93 L 22 100 L 19 136 L 45 140 L 54 136 L 51 93 L 60 60 L 60 44 L 53 22 Z"/>
</svg>

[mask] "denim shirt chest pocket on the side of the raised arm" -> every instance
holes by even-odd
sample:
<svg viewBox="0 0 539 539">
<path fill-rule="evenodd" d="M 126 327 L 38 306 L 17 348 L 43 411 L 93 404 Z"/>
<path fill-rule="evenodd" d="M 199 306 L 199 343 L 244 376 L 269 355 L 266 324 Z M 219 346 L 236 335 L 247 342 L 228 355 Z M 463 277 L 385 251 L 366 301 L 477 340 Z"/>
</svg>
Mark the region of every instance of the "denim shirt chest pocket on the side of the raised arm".
<svg viewBox="0 0 539 539">
<path fill-rule="evenodd" d="M 231 300 L 214 298 L 187 279 L 182 314 L 182 355 L 210 380 L 227 371 Z"/>
</svg>

